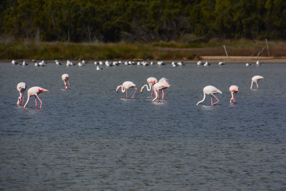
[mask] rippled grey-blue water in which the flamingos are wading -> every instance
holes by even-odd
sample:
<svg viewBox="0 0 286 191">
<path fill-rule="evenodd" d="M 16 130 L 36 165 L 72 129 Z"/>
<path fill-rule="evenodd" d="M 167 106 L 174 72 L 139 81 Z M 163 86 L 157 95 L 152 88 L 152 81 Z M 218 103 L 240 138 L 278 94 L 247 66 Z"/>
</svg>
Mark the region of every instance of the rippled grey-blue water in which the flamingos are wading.
<svg viewBox="0 0 286 191">
<path fill-rule="evenodd" d="M 2 62 L 0 70 L 0 190 L 286 189 L 285 64 L 96 70 Z M 264 79 L 250 90 L 255 75 Z M 169 79 L 164 102 L 140 93 L 148 77 Z M 133 88 L 128 99 L 116 93 L 124 81 L 136 84 L 135 99 Z M 33 97 L 16 105 L 19 82 L 49 90 L 39 94 L 41 109 Z M 196 105 L 207 85 L 223 92 L 220 102 L 210 106 L 207 95 Z M 236 104 L 231 85 L 239 86 Z"/>
</svg>

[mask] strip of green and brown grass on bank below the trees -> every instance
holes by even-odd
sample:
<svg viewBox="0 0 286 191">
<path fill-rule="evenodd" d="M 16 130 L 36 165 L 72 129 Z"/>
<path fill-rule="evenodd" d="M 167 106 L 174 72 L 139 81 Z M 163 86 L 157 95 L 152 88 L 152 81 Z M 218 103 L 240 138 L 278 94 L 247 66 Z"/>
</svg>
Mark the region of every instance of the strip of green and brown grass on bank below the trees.
<svg viewBox="0 0 286 191">
<path fill-rule="evenodd" d="M 229 56 L 268 56 L 266 41 L 255 40 L 220 40 L 212 39 L 200 43 L 177 42 L 118 42 L 118 43 L 72 43 L 72 42 L 30 42 L 17 41 L 1 43 L 0 56 L 5 59 L 194 59 L 198 56 L 225 56 L 226 46 Z M 268 41 L 270 56 L 281 57 L 286 54 L 283 41 Z M 264 49 L 263 49 L 264 48 Z"/>
</svg>

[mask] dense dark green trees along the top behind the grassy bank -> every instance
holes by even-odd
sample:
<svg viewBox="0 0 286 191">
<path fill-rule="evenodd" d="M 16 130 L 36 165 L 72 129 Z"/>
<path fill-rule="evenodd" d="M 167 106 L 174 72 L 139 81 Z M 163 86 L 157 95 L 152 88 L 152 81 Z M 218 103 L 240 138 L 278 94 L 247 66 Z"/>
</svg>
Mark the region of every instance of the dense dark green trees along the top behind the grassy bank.
<svg viewBox="0 0 286 191">
<path fill-rule="evenodd" d="M 285 20 L 285 0 L 3 0 L 0 4 L 2 39 L 284 39 Z"/>
</svg>

